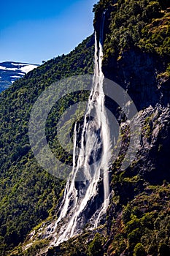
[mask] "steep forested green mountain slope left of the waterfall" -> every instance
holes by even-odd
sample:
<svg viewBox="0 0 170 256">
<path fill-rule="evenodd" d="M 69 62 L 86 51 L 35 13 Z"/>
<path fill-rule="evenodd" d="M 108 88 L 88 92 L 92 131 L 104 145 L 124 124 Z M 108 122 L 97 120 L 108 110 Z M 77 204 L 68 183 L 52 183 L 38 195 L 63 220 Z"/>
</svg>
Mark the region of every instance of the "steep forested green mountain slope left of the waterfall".
<svg viewBox="0 0 170 256">
<path fill-rule="evenodd" d="M 93 36 L 88 37 L 68 55 L 47 61 L 0 94 L 0 255 L 53 216 L 64 182 L 42 170 L 34 159 L 28 140 L 29 115 L 45 87 L 66 76 L 93 72 L 93 43 Z M 52 130 L 53 119 L 48 120 Z"/>
</svg>

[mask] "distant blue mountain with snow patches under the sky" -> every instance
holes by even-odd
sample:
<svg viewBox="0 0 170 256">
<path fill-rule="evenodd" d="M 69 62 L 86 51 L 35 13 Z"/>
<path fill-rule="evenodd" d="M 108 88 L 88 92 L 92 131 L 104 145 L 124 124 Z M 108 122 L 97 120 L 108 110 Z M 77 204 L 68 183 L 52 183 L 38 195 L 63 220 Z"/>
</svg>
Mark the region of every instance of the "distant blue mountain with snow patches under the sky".
<svg viewBox="0 0 170 256">
<path fill-rule="evenodd" d="M 18 78 L 23 78 L 29 71 L 39 67 L 36 64 L 5 61 L 0 63 L 0 92 L 7 89 Z"/>
</svg>

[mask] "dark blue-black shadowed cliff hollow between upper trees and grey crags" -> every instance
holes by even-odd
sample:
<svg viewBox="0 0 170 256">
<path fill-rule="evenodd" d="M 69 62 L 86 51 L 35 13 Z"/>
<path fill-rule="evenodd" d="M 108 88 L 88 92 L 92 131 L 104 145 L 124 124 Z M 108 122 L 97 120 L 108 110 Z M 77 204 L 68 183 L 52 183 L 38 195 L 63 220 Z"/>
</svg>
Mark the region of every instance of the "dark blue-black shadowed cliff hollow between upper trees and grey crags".
<svg viewBox="0 0 170 256">
<path fill-rule="evenodd" d="M 104 66 L 104 75 L 127 90 L 136 108 L 142 110 L 157 103 L 169 106 L 170 80 L 158 79 L 163 69 L 161 58 L 134 48 L 123 52 L 118 61 L 114 57 L 109 58 Z"/>
</svg>

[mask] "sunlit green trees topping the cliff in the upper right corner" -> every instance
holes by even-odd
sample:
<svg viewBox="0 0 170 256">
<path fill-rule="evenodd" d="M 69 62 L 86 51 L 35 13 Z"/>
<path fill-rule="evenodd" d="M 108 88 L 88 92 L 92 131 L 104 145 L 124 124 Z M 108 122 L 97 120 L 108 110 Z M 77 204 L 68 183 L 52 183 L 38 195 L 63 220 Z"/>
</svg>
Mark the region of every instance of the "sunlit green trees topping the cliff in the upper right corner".
<svg viewBox="0 0 170 256">
<path fill-rule="evenodd" d="M 167 74 L 170 63 L 169 1 L 163 0 L 107 0 L 94 6 L 94 26 L 98 31 L 101 14 L 107 10 L 105 28 L 104 66 L 109 59 L 120 59 L 125 50 L 139 48 L 165 58 Z"/>
</svg>

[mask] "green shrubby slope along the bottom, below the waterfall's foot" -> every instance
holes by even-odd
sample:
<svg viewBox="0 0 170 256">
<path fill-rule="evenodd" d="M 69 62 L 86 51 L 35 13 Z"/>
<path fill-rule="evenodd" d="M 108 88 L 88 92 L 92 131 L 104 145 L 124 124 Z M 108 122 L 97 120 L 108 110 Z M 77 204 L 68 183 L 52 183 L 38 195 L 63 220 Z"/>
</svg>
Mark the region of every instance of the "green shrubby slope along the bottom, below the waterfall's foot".
<svg viewBox="0 0 170 256">
<path fill-rule="evenodd" d="M 108 219 L 112 219 L 109 233 L 106 233 L 106 227 L 82 233 L 59 248 L 50 248 L 47 256 L 120 256 L 123 253 L 127 256 L 168 256 L 169 200 L 170 185 L 147 186 L 144 192 L 129 200 L 122 210 L 118 207 L 115 215 L 109 210 Z"/>
</svg>

